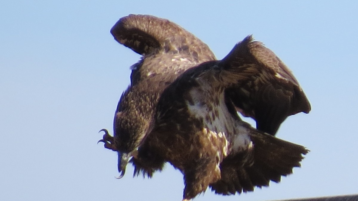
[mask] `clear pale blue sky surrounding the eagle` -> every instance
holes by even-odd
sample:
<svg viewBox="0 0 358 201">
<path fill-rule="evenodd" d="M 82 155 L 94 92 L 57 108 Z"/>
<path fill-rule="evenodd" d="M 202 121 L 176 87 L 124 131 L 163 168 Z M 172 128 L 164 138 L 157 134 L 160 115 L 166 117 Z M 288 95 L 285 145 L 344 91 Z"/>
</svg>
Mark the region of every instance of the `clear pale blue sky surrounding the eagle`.
<svg viewBox="0 0 358 201">
<path fill-rule="evenodd" d="M 355 1 L 1 1 L 0 200 L 180 201 L 169 164 L 152 179 L 117 180 L 116 153 L 96 144 L 110 129 L 129 67 L 140 55 L 109 30 L 122 16 L 169 19 L 223 58 L 245 36 L 294 72 L 312 111 L 277 137 L 311 152 L 279 184 L 195 201 L 264 201 L 358 193 L 358 4 Z"/>
</svg>

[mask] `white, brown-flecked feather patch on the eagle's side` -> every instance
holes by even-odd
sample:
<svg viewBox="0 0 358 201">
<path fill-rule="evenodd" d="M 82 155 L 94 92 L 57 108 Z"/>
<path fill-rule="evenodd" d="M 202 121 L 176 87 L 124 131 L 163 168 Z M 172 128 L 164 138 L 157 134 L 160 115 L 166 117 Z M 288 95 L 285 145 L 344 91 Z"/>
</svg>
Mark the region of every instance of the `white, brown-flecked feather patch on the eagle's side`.
<svg viewBox="0 0 358 201">
<path fill-rule="evenodd" d="M 251 149 L 249 129 L 229 112 L 224 88 L 201 82 L 200 78 L 197 83 L 189 90 L 185 102 L 189 116 L 202 121 L 203 137 L 218 148 L 222 157 Z"/>
</svg>

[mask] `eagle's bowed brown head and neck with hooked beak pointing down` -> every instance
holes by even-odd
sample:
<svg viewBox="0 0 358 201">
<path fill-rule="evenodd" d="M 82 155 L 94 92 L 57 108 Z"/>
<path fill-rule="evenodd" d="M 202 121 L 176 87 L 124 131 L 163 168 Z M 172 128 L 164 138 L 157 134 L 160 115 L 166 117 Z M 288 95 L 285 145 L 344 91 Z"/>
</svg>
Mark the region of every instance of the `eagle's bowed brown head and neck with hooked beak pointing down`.
<svg viewBox="0 0 358 201">
<path fill-rule="evenodd" d="M 144 90 L 144 91 L 143 91 Z M 130 157 L 135 157 L 154 121 L 154 102 L 138 85 L 130 86 L 121 96 L 113 122 L 113 146 L 118 152 L 118 171 L 121 178 Z"/>
</svg>

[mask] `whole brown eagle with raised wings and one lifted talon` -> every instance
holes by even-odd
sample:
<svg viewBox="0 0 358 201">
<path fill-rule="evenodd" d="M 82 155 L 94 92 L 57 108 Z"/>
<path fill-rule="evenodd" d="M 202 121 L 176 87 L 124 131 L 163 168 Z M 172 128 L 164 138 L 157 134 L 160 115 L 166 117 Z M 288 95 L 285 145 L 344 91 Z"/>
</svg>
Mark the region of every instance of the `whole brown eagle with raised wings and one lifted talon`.
<svg viewBox="0 0 358 201">
<path fill-rule="evenodd" d="M 207 188 L 222 195 L 280 182 L 309 150 L 275 136 L 293 114 L 311 106 L 291 70 L 248 35 L 217 60 L 181 26 L 151 15 L 120 18 L 115 40 L 142 55 L 130 67 L 104 147 L 118 153 L 121 178 L 152 177 L 170 163 L 184 175 L 183 200 Z M 238 113 L 256 121 L 256 128 Z M 101 132 L 100 131 L 100 132 Z"/>
</svg>

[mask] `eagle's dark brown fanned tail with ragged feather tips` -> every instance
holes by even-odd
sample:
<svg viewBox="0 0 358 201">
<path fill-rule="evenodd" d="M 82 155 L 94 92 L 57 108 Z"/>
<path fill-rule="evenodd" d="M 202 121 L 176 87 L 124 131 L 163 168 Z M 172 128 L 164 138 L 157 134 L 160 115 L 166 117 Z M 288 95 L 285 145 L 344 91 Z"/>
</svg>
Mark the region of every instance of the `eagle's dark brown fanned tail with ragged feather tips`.
<svg viewBox="0 0 358 201">
<path fill-rule="evenodd" d="M 240 164 L 240 157 L 229 157 L 221 163 L 221 179 L 211 184 L 215 193 L 229 195 L 253 191 L 254 187 L 269 186 L 270 181 L 280 182 L 281 176 L 300 167 L 305 147 L 284 141 L 267 133 L 252 132 L 253 161 Z"/>
</svg>

